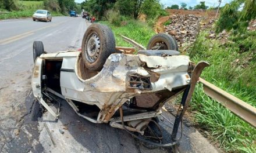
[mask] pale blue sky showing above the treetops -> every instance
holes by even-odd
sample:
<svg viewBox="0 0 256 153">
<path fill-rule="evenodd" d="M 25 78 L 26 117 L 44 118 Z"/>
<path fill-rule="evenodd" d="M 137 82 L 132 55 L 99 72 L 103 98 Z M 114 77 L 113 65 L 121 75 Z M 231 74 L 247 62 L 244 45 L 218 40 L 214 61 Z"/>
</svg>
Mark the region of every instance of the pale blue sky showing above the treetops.
<svg viewBox="0 0 256 153">
<path fill-rule="evenodd" d="M 78 3 L 81 3 L 83 2 L 84 0 L 74 0 L 75 2 L 78 2 Z M 172 1 L 172 0 L 160 0 L 160 2 L 165 5 L 165 7 L 167 6 L 171 6 L 173 4 L 177 4 L 177 5 L 180 5 L 180 3 L 184 2 L 184 3 L 187 3 L 187 6 L 195 6 L 197 5 L 198 3 L 200 3 L 200 1 L 205 1 L 205 5 L 206 6 L 218 6 L 219 4 L 219 0 L 177 0 L 177 1 Z M 229 3 L 230 1 L 232 0 L 222 0 L 222 3 L 221 3 L 221 6 L 224 6 L 226 3 Z"/>
</svg>

